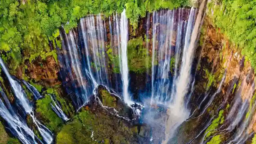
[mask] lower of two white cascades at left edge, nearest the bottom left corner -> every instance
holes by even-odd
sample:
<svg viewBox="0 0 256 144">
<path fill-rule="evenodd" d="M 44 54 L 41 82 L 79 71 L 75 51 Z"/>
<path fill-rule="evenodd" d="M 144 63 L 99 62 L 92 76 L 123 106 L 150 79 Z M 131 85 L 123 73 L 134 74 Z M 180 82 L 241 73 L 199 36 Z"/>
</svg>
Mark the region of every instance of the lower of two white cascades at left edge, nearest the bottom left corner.
<svg viewBox="0 0 256 144">
<path fill-rule="evenodd" d="M 0 88 L 4 102 L 0 99 L 0 116 L 5 120 L 8 130 L 23 144 L 37 144 L 38 138 L 20 116 L 14 112 L 8 98 Z"/>
</svg>

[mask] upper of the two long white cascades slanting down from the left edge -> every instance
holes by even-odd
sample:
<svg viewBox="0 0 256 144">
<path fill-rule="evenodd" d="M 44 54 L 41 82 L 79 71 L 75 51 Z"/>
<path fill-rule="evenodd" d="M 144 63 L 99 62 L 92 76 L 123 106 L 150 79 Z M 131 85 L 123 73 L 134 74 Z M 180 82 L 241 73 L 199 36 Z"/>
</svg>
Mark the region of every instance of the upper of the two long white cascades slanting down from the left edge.
<svg viewBox="0 0 256 144">
<path fill-rule="evenodd" d="M 36 117 L 34 116 L 33 109 L 32 109 L 33 107 L 31 105 L 30 101 L 28 100 L 24 90 L 22 89 L 22 86 L 10 76 L 2 58 L 0 58 L 0 65 L 2 67 L 2 70 L 5 73 L 6 77 L 8 78 L 8 81 L 10 82 L 10 86 L 12 88 L 12 91 L 14 92 L 16 103 L 18 104 L 18 106 L 20 106 L 22 108 L 22 110 L 25 114 L 30 115 L 34 124 L 36 124 L 38 131 L 40 132 L 40 135 L 42 136 L 44 142 L 46 144 L 51 144 L 53 141 L 52 132 L 50 132 L 50 130 L 48 128 L 46 128 L 44 125 L 42 125 L 36 119 Z"/>
</svg>

